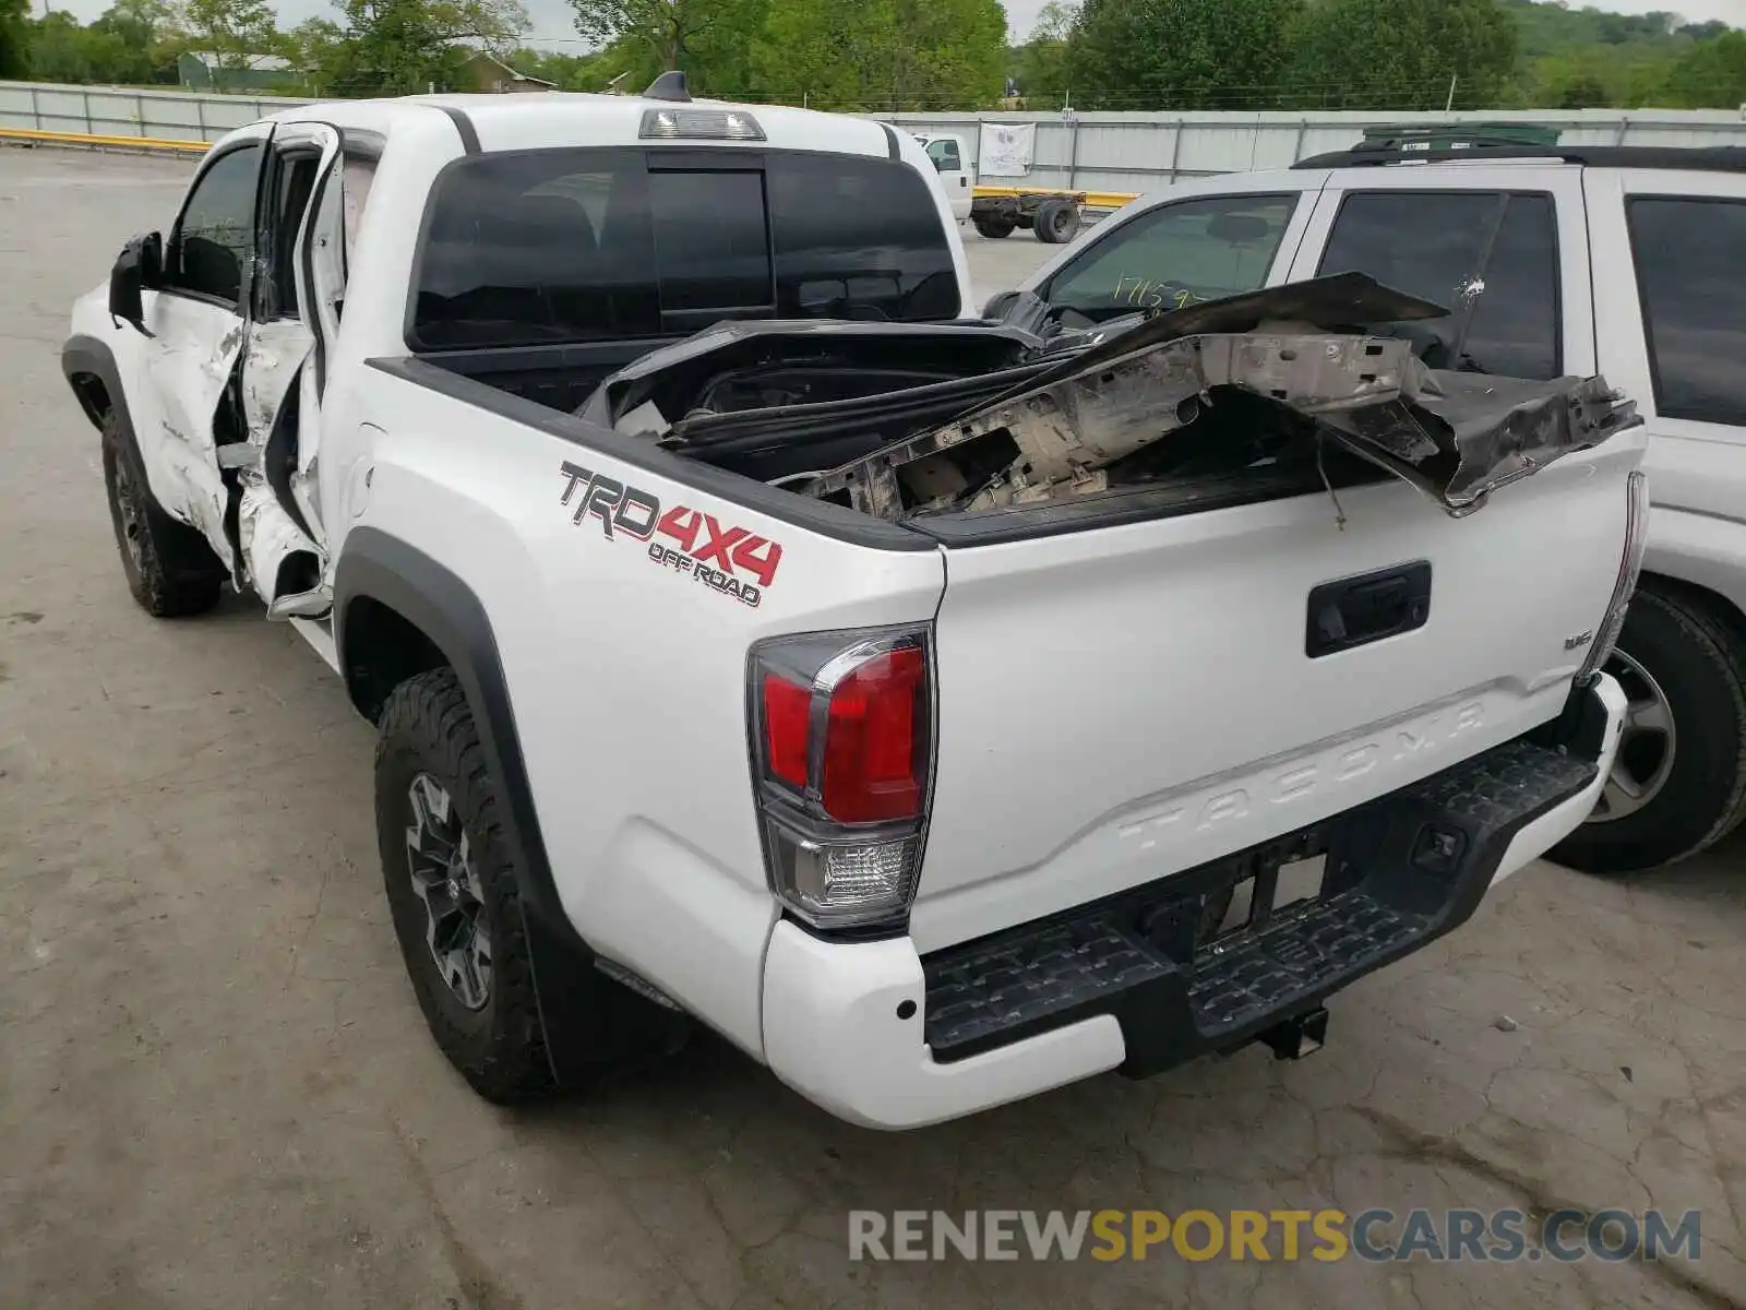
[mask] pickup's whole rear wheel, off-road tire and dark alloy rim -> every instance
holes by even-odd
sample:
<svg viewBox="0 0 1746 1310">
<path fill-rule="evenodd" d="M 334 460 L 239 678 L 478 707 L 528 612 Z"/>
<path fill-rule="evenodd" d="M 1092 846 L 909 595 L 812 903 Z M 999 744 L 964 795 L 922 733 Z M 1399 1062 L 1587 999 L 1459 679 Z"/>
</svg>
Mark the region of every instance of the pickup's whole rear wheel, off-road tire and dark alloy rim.
<svg viewBox="0 0 1746 1310">
<path fill-rule="evenodd" d="M 407 978 L 442 1053 L 496 1104 L 553 1092 L 515 861 L 452 669 L 403 681 L 382 707 L 375 831 Z"/>
</svg>

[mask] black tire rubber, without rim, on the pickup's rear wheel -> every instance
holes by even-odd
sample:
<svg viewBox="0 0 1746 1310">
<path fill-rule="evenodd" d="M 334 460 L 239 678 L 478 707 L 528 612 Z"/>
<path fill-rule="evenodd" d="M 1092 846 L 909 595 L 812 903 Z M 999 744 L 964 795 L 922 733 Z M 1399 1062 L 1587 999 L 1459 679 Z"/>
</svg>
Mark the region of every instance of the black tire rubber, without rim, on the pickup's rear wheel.
<svg viewBox="0 0 1746 1310">
<path fill-rule="evenodd" d="M 475 861 L 491 941 L 491 989 L 480 1010 L 456 997 L 426 945 L 430 920 L 407 866 L 409 789 L 419 774 L 449 793 Z M 517 1104 L 550 1095 L 557 1083 L 499 805 L 454 671 L 435 669 L 396 686 L 382 707 L 375 746 L 375 830 L 395 936 L 442 1053 L 485 1100 Z"/>
</svg>

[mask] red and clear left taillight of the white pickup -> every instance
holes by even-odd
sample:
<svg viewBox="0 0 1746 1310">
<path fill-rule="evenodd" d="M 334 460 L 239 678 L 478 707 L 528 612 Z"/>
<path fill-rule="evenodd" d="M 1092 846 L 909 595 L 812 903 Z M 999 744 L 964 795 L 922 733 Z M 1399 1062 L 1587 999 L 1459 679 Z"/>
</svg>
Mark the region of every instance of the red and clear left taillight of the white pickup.
<svg viewBox="0 0 1746 1310">
<path fill-rule="evenodd" d="M 749 692 L 770 887 L 815 927 L 903 922 L 934 769 L 927 629 L 760 643 Z"/>
</svg>

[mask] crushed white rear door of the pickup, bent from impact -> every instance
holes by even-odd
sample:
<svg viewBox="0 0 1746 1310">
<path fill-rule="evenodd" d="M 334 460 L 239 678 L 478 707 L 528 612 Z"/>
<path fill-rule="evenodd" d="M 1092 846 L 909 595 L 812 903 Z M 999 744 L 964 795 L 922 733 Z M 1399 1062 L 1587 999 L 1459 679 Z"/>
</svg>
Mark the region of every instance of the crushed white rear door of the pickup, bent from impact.
<svg viewBox="0 0 1746 1310">
<path fill-rule="evenodd" d="M 340 159 L 330 124 L 285 124 L 260 192 L 239 386 L 246 438 L 223 454 L 239 486 L 243 568 L 269 618 L 320 618 L 332 606 L 316 435 L 346 278 Z"/>
</svg>

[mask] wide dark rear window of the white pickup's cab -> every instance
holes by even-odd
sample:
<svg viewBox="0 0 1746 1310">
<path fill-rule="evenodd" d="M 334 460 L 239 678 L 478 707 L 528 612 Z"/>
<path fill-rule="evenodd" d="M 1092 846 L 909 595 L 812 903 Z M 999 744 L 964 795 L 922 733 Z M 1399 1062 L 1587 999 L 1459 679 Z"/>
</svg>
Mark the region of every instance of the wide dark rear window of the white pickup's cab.
<svg viewBox="0 0 1746 1310">
<path fill-rule="evenodd" d="M 885 159 L 780 152 L 477 155 L 433 190 L 416 285 L 423 349 L 962 309 L 925 178 Z"/>
</svg>

